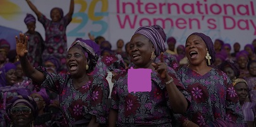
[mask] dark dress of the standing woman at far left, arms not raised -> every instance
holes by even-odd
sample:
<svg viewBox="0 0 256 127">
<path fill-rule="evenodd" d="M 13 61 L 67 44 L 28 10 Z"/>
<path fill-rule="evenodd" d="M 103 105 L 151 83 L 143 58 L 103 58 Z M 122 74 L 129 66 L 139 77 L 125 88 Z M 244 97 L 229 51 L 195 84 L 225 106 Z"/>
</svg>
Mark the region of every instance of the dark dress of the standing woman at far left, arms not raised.
<svg viewBox="0 0 256 127">
<path fill-rule="evenodd" d="M 44 50 L 44 40 L 40 33 L 25 33 L 28 36 L 28 55 L 27 58 L 33 67 L 42 65 L 42 52 Z"/>
</svg>

